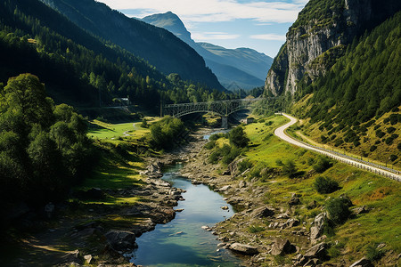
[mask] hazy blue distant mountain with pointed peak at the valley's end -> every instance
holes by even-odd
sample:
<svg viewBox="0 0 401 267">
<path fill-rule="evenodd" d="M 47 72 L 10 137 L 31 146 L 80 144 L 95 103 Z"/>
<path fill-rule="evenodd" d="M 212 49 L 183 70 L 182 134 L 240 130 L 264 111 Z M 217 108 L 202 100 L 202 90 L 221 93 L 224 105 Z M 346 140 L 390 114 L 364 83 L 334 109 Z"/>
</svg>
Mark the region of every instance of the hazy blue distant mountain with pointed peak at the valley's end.
<svg viewBox="0 0 401 267">
<path fill-rule="evenodd" d="M 205 59 L 226 88 L 235 85 L 235 88 L 250 89 L 264 85 L 266 73 L 273 63 L 273 59 L 266 54 L 250 48 L 225 49 L 214 44 L 195 43 L 183 21 L 172 12 L 154 14 L 142 20 L 166 28 L 189 44 Z"/>
</svg>

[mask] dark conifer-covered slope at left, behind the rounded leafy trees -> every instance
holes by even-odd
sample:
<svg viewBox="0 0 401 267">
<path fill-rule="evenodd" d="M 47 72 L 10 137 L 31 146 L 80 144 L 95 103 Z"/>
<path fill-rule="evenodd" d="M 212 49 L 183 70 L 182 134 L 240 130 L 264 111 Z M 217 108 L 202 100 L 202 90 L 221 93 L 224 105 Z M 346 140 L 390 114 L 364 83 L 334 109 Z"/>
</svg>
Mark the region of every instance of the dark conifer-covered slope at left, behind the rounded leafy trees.
<svg viewBox="0 0 401 267">
<path fill-rule="evenodd" d="M 206 85 L 164 76 L 116 44 L 89 35 L 60 13 L 35 1 L 0 2 L 0 80 L 33 73 L 56 102 L 112 105 L 113 98 L 155 108 L 164 102 L 229 97 Z"/>
</svg>

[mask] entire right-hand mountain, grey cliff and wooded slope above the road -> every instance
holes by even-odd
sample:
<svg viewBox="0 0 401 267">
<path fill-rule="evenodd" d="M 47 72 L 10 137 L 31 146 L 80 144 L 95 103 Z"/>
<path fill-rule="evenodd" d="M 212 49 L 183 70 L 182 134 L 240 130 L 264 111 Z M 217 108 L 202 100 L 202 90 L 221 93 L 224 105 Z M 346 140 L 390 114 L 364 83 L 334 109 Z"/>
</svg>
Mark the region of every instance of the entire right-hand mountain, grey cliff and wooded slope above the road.
<svg viewBox="0 0 401 267">
<path fill-rule="evenodd" d="M 269 108 L 303 118 L 302 138 L 397 166 L 401 4 L 363 3 L 309 1 L 274 59 L 265 94 L 280 96 Z"/>
</svg>

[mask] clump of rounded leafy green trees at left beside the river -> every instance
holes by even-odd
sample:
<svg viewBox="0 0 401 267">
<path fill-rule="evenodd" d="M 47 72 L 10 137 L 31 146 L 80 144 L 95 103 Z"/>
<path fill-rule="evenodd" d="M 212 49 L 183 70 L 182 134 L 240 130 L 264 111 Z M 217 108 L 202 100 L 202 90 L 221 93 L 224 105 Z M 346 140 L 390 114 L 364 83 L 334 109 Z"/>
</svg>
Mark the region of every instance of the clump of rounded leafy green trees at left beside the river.
<svg viewBox="0 0 401 267">
<path fill-rule="evenodd" d="M 75 110 L 54 106 L 36 76 L 9 79 L 0 90 L 0 198 L 31 206 L 62 199 L 93 166 L 86 122 Z"/>
</svg>

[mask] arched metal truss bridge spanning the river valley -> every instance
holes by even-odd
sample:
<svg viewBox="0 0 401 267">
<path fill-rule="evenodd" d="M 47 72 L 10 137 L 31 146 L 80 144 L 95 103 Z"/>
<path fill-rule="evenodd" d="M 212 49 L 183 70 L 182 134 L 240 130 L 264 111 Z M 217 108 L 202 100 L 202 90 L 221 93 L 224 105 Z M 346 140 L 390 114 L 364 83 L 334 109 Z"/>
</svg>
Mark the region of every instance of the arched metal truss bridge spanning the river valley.
<svg viewBox="0 0 401 267">
<path fill-rule="evenodd" d="M 208 113 L 213 112 L 222 117 L 222 127 L 228 126 L 227 117 L 241 109 L 247 109 L 250 104 L 261 100 L 262 98 L 252 99 L 235 99 L 225 101 L 207 101 L 170 104 L 163 107 L 162 115 L 170 115 L 172 117 L 182 117 L 192 113 Z"/>
</svg>

